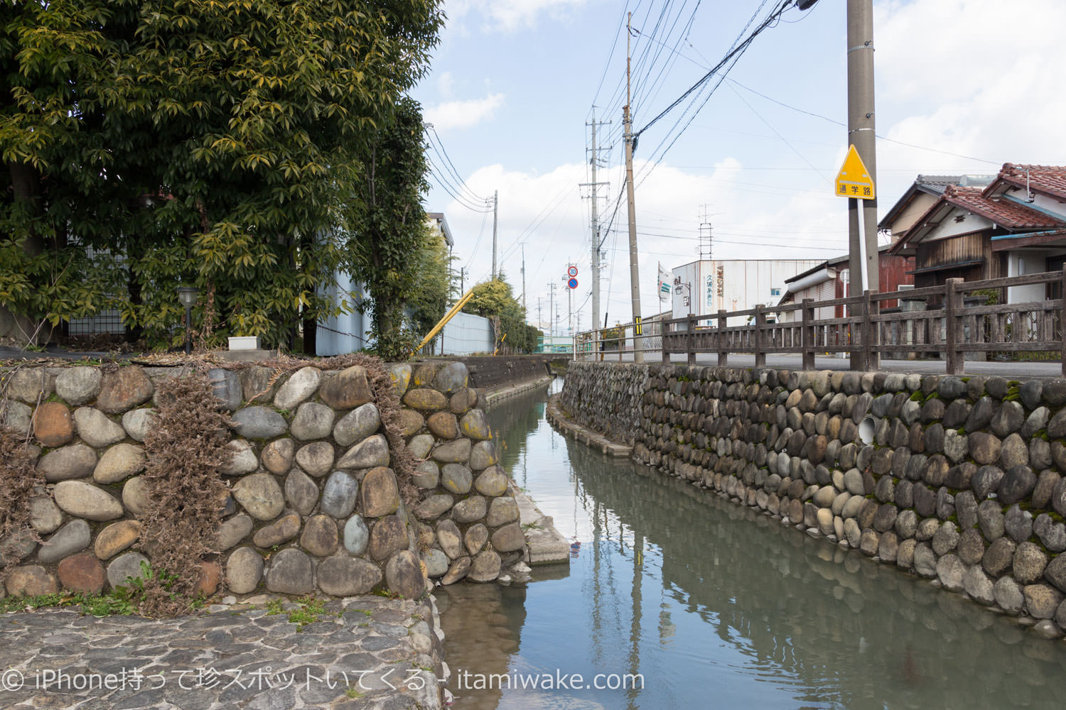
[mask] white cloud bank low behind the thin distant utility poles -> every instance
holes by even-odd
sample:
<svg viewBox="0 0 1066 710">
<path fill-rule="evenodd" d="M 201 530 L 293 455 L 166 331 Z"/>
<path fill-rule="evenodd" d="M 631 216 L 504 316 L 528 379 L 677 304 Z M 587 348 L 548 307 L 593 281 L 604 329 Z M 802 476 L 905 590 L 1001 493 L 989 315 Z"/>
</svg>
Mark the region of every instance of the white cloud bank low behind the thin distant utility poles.
<svg viewBox="0 0 1066 710">
<path fill-rule="evenodd" d="M 484 166 L 465 178 L 479 196 L 491 196 L 499 191 L 499 267 L 521 294 L 521 243 L 526 244 L 527 308 L 531 321 L 537 319 L 537 298 L 540 298 L 542 320 L 547 323 L 549 284 L 555 283 L 555 301 L 567 320 L 567 288 L 563 274 L 568 264 L 579 268 L 579 286 L 572 293 L 575 327 L 581 310 L 580 327 L 587 328 L 591 319 L 591 227 L 589 204 L 582 195 L 588 182 L 586 165 L 560 165 L 549 172 L 535 174 L 505 169 L 501 165 Z M 643 161 L 635 170 L 642 174 Z M 599 180 L 610 181 L 601 191 L 600 217 L 611 218 L 621 182 L 616 170 L 600 174 Z M 640 178 L 637 178 L 640 181 Z M 725 159 L 708 174 L 694 174 L 660 165 L 636 192 L 639 271 L 644 314 L 661 309 L 655 288 L 657 265 L 667 269 L 698 259 L 697 236 L 700 205 L 710 202 L 708 212 L 714 225 L 714 257 L 716 259 L 826 259 L 843 253 L 846 244 L 846 222 L 839 200 L 830 189 L 824 196 L 811 196 L 810 191 L 772 196 L 769 185 L 748 183 L 765 181 L 753 177 L 736 160 Z M 768 209 L 772 208 L 772 209 Z M 437 208 L 433 208 L 437 209 Z M 466 266 L 466 286 L 487 279 L 492 261 L 492 215 L 472 213 L 456 202 L 443 207 L 455 234 L 457 257 L 455 268 Z M 788 215 L 787 217 L 785 215 Z M 610 321 L 626 321 L 630 316 L 629 242 L 625 199 L 614 221 L 615 231 L 604 234 L 605 264 L 601 275 L 602 306 Z"/>
</svg>

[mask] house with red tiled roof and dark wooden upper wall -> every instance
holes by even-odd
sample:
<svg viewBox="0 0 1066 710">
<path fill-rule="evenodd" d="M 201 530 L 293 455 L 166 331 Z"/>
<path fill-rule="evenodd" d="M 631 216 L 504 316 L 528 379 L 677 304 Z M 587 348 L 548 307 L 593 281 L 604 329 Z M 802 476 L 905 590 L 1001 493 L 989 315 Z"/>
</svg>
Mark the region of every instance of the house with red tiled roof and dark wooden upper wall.
<svg viewBox="0 0 1066 710">
<path fill-rule="evenodd" d="M 1066 263 L 1066 166 L 1004 163 L 985 186 L 949 184 L 889 253 L 914 255 L 916 288 L 1059 270 Z M 1006 300 L 1056 298 L 1057 288 L 1011 287 Z"/>
</svg>

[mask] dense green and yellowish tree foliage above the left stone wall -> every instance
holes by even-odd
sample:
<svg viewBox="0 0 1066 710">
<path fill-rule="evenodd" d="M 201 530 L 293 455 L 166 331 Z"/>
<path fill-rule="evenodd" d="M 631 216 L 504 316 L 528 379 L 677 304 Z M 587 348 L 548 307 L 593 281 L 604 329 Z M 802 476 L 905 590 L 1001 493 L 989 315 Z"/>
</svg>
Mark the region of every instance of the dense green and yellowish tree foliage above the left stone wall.
<svg viewBox="0 0 1066 710">
<path fill-rule="evenodd" d="M 330 275 L 409 235 L 389 222 L 410 191 L 381 204 L 368 182 L 414 130 L 441 19 L 439 0 L 0 4 L 0 302 L 53 325 L 118 308 L 157 341 L 179 283 L 206 336 L 278 344 L 336 313 Z"/>
</svg>

